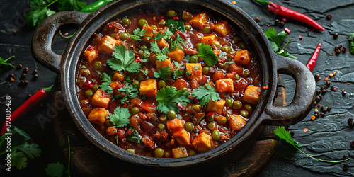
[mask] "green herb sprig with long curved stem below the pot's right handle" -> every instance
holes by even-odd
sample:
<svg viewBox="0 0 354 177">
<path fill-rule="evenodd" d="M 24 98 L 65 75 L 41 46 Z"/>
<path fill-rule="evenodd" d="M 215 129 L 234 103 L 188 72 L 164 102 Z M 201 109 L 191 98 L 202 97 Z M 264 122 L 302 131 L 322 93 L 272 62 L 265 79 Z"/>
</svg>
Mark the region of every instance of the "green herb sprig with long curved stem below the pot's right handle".
<svg viewBox="0 0 354 177">
<path fill-rule="evenodd" d="M 299 149 L 299 147 L 300 147 L 299 142 L 295 142 L 295 140 L 291 139 L 292 137 L 290 135 L 290 132 L 287 132 L 287 130 L 285 130 L 285 127 L 275 127 L 274 134 L 277 135 L 278 137 L 280 137 L 280 139 L 284 139 L 287 143 L 292 144 L 292 146 L 295 147 L 297 150 L 299 150 L 299 152 L 302 152 L 302 150 Z M 324 162 L 330 162 L 330 163 L 340 163 L 340 162 L 349 160 L 349 158 L 348 158 L 348 159 L 343 159 L 341 161 L 326 161 L 326 160 L 322 160 L 322 159 L 316 159 L 313 156 L 310 156 L 309 154 L 306 154 L 304 152 L 302 152 L 302 154 L 305 154 L 309 158 L 315 159 L 316 161 L 324 161 Z"/>
</svg>

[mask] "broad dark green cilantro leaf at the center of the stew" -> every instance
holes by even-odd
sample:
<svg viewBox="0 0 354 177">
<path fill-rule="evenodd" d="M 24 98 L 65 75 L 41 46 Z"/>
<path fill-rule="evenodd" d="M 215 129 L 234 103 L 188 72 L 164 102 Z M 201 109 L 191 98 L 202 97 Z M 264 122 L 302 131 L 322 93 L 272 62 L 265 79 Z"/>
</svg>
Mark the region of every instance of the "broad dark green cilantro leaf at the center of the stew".
<svg viewBox="0 0 354 177">
<path fill-rule="evenodd" d="M 174 110 L 177 113 L 180 111 L 180 108 L 177 106 L 177 103 L 181 103 L 183 106 L 187 106 L 187 103 L 190 102 L 188 98 L 188 92 L 185 89 L 177 91 L 174 86 L 166 86 L 156 94 L 157 101 L 157 110 L 162 113 L 168 113 L 169 110 Z"/>
</svg>

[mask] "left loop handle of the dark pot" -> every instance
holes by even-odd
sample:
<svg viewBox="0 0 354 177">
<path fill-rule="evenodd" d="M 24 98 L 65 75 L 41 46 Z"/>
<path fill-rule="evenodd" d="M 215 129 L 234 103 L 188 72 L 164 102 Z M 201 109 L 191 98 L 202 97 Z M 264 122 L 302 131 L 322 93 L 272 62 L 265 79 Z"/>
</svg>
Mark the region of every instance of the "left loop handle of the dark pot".
<svg viewBox="0 0 354 177">
<path fill-rule="evenodd" d="M 45 18 L 35 30 L 32 40 L 33 57 L 43 66 L 59 73 L 62 55 L 52 51 L 52 42 L 62 25 L 75 24 L 80 29 L 81 23 L 91 13 L 62 11 Z"/>
</svg>

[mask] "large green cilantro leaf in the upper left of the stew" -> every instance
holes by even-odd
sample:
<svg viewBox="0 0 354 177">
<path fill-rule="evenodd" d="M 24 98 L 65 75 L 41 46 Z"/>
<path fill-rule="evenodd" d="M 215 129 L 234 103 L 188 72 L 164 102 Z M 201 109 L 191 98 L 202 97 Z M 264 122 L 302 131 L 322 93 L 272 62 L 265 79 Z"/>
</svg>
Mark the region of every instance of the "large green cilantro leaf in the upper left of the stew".
<svg viewBox="0 0 354 177">
<path fill-rule="evenodd" d="M 127 50 L 124 45 L 115 45 L 113 50 L 113 56 L 115 58 L 107 60 L 107 64 L 113 70 L 138 72 L 140 67 L 142 67 L 140 63 L 134 62 L 134 53 L 132 50 Z"/>
</svg>

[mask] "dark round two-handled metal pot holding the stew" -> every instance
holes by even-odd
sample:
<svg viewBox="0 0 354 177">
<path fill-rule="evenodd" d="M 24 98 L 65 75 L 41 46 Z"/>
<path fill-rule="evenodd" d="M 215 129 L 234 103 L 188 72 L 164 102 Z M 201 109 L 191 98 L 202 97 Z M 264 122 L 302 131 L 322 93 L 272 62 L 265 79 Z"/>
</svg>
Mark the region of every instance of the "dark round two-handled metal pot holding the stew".
<svg viewBox="0 0 354 177">
<path fill-rule="evenodd" d="M 215 16 L 229 21 L 229 24 L 239 32 L 247 45 L 253 49 L 253 55 L 258 57 L 261 62 L 262 84 L 268 86 L 268 89 L 262 91 L 261 101 L 259 101 L 249 122 L 232 139 L 215 149 L 195 156 L 179 159 L 157 159 L 139 156 L 120 149 L 108 142 L 93 128 L 81 111 L 76 93 L 78 88 L 75 76 L 76 69 L 79 66 L 79 58 L 96 30 L 108 21 L 112 21 L 115 16 L 136 13 L 139 8 L 149 11 L 158 11 L 159 8 L 187 8 L 210 11 Z M 63 55 L 55 54 L 52 51 L 52 40 L 58 28 L 72 23 L 78 27 L 76 35 L 70 40 Z M 94 13 L 74 11 L 55 13 L 46 18 L 35 31 L 32 49 L 33 55 L 40 64 L 60 74 L 62 94 L 72 120 L 93 144 L 113 156 L 117 161 L 123 161 L 122 164 L 134 164 L 141 168 L 156 169 L 161 173 L 171 170 L 179 171 L 182 167 L 183 169 L 204 169 L 203 171 L 207 172 L 208 170 L 205 169 L 215 168 L 217 163 L 230 163 L 242 154 L 240 150 L 242 146 L 240 145 L 257 136 L 255 132 L 260 125 L 292 125 L 306 117 L 314 102 L 316 87 L 314 77 L 309 69 L 295 59 L 276 55 L 257 23 L 237 6 L 232 6 L 232 4 L 221 0 L 122 0 L 113 1 Z M 288 74 L 296 82 L 295 96 L 290 105 L 286 107 L 275 107 L 273 105 L 278 74 Z"/>
</svg>

